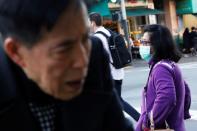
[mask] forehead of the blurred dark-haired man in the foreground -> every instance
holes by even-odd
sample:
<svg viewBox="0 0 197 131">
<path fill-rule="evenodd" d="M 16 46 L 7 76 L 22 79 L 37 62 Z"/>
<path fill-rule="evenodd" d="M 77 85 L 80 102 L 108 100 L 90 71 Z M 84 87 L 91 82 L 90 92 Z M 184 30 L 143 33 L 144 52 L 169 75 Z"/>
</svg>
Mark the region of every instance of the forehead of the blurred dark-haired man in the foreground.
<svg viewBox="0 0 197 131">
<path fill-rule="evenodd" d="M 88 19 L 85 5 L 71 5 L 59 16 L 50 32 L 44 31 L 43 38 L 52 37 L 58 39 L 76 39 L 88 32 Z M 61 36 L 61 38 L 60 38 Z"/>
</svg>

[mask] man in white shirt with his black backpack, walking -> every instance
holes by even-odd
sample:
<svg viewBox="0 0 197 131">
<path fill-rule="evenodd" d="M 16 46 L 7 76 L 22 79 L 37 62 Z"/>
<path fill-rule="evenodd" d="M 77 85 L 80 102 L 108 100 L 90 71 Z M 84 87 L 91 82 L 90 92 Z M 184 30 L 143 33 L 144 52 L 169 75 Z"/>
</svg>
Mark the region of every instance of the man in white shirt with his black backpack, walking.
<svg viewBox="0 0 197 131">
<path fill-rule="evenodd" d="M 91 32 L 93 32 L 94 36 L 98 37 L 102 41 L 105 50 L 109 54 L 109 65 L 111 68 L 112 78 L 114 80 L 114 86 L 118 96 L 120 97 L 124 111 L 137 121 L 140 114 L 121 97 L 122 81 L 124 79 L 123 67 L 131 62 L 130 54 L 128 53 L 124 43 L 124 38 L 121 35 L 103 27 L 102 16 L 99 13 L 90 13 L 89 18 Z M 118 54 L 117 52 L 120 53 Z"/>
</svg>

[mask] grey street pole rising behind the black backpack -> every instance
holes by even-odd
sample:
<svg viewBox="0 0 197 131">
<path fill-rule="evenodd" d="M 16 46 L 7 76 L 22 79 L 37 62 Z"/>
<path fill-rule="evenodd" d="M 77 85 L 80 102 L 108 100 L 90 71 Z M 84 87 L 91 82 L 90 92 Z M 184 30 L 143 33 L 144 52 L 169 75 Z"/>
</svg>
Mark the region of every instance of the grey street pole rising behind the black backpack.
<svg viewBox="0 0 197 131">
<path fill-rule="evenodd" d="M 125 39 L 128 44 L 128 51 L 132 57 L 132 52 L 131 52 L 131 41 L 130 41 L 130 36 L 129 36 L 129 30 L 128 30 L 128 24 L 127 24 L 127 15 L 126 15 L 126 9 L 125 9 L 125 0 L 120 0 L 120 10 L 121 10 L 121 24 L 122 28 L 124 30 L 125 34 Z"/>
</svg>

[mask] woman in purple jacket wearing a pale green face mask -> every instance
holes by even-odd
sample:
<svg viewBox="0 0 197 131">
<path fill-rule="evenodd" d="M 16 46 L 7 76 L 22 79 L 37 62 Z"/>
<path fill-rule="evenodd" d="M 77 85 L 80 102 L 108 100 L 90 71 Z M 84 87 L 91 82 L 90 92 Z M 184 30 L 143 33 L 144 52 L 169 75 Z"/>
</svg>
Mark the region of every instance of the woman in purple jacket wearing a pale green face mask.
<svg viewBox="0 0 197 131">
<path fill-rule="evenodd" d="M 166 129 L 185 131 L 190 118 L 190 90 L 176 64 L 181 58 L 169 29 L 148 25 L 141 40 L 140 55 L 150 67 L 142 94 L 141 116 L 136 131 Z"/>
</svg>

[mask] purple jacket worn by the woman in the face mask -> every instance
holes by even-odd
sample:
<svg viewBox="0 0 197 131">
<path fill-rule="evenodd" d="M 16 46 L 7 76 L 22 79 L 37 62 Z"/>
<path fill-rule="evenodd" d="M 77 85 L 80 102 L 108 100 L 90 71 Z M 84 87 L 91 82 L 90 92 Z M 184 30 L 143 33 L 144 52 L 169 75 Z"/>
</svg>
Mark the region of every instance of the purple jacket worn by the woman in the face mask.
<svg viewBox="0 0 197 131">
<path fill-rule="evenodd" d="M 154 63 L 151 64 L 153 66 Z M 150 127 L 142 95 L 141 116 L 136 131 L 142 125 Z M 184 119 L 190 118 L 190 90 L 183 80 L 179 67 L 172 61 L 162 60 L 153 67 L 147 84 L 147 111 L 153 112 L 156 128 L 165 128 L 165 120 L 175 131 L 185 131 Z"/>
</svg>

